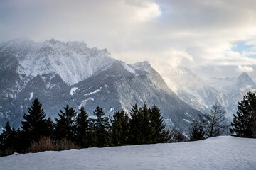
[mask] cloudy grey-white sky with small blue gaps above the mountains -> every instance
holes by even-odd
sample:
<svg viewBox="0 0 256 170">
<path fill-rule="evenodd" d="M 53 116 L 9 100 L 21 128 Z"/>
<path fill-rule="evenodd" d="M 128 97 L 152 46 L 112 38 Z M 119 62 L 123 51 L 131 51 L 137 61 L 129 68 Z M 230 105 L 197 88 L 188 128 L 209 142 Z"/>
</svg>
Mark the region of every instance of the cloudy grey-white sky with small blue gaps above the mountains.
<svg viewBox="0 0 256 170">
<path fill-rule="evenodd" d="M 256 81 L 255 0 L 1 0 L 0 16 L 0 43 L 78 40 L 160 73 L 185 66 Z"/>
</svg>

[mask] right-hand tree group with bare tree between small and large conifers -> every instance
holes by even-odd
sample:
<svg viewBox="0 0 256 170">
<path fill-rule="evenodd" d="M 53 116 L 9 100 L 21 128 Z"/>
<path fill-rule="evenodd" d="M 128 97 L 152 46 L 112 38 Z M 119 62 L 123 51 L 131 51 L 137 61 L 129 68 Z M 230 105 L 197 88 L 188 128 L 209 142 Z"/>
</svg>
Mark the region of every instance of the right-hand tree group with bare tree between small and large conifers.
<svg viewBox="0 0 256 170">
<path fill-rule="evenodd" d="M 231 124 L 225 118 L 225 109 L 218 103 L 213 104 L 209 114 L 199 115 L 198 120 L 193 120 L 188 137 L 194 141 L 228 134 L 256 138 L 255 93 L 249 91 L 242 101 L 238 102 L 238 111 L 233 114 Z"/>
</svg>

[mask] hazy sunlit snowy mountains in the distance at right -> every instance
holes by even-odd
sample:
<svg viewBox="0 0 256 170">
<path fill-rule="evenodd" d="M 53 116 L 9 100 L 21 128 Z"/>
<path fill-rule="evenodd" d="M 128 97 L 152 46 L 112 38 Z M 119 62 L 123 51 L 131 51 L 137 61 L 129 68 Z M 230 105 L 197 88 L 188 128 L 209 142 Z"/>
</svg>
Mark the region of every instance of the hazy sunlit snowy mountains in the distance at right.
<svg viewBox="0 0 256 170">
<path fill-rule="evenodd" d="M 164 66 L 161 75 L 170 89 L 189 106 L 208 113 L 213 103 L 220 103 L 227 111 L 230 120 L 237 111 L 238 101 L 248 91 L 255 91 L 255 82 L 247 73 L 233 78 L 211 78 L 203 80 L 186 67 Z"/>
</svg>

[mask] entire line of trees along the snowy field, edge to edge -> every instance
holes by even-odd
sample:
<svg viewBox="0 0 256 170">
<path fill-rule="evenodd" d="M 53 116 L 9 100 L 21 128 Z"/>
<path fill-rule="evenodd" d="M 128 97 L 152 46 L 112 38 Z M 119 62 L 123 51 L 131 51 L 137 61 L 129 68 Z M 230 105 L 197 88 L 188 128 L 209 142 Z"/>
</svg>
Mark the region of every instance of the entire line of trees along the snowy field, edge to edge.
<svg viewBox="0 0 256 170">
<path fill-rule="evenodd" d="M 0 135 L 0 156 L 14 152 L 196 141 L 219 135 L 256 138 L 255 93 L 249 91 L 238 102 L 238 111 L 231 124 L 225 114 L 220 104 L 213 104 L 210 113 L 198 115 L 184 135 L 175 127 L 166 131 L 160 109 L 155 105 L 149 108 L 146 103 L 142 107 L 135 104 L 129 116 L 124 111 L 117 111 L 110 118 L 100 107 L 93 112 L 94 117 L 89 118 L 83 106 L 77 112 L 67 105 L 53 123 L 46 118 L 36 98 L 28 113 L 23 115 L 21 130 L 6 123 Z"/>
</svg>

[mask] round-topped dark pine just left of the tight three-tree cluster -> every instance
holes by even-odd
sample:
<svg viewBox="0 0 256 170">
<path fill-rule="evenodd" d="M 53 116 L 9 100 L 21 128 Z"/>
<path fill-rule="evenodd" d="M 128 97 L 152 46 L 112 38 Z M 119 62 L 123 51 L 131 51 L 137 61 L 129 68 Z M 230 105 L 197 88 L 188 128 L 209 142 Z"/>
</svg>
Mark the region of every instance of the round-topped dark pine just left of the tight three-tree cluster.
<svg viewBox="0 0 256 170">
<path fill-rule="evenodd" d="M 129 141 L 129 117 L 124 111 L 117 111 L 113 118 L 110 118 L 112 145 L 128 145 Z"/>
</svg>

